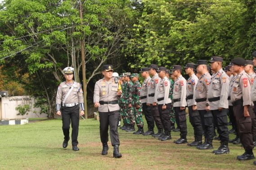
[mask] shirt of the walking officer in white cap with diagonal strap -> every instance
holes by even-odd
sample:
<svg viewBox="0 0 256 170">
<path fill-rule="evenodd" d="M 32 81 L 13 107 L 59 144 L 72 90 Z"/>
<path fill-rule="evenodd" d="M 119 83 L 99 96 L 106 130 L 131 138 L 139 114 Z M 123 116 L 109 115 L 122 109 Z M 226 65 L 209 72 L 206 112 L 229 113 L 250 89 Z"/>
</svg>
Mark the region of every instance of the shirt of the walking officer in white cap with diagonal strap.
<svg viewBox="0 0 256 170">
<path fill-rule="evenodd" d="M 73 81 L 72 85 L 74 85 L 74 88 L 66 98 L 65 104 L 72 104 L 75 102 L 84 103 L 83 90 L 80 83 Z M 68 91 L 71 89 L 72 85 L 68 85 L 66 81 L 59 85 L 56 95 L 56 104 L 61 104 L 64 101 L 64 98 L 66 97 Z"/>
</svg>

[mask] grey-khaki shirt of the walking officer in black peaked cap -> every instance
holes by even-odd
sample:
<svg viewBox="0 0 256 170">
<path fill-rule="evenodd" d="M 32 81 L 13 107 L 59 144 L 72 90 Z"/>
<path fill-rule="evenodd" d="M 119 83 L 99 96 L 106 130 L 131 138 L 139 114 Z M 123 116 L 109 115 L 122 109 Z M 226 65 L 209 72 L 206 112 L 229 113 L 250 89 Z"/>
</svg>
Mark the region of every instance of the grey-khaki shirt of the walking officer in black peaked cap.
<svg viewBox="0 0 256 170">
<path fill-rule="evenodd" d="M 97 81 L 94 86 L 93 102 L 111 102 L 119 100 L 117 96 L 118 83 L 115 83 L 114 78 L 106 81 L 105 78 Z M 99 106 L 100 112 L 116 111 L 119 110 L 118 104 L 103 104 Z"/>
</svg>

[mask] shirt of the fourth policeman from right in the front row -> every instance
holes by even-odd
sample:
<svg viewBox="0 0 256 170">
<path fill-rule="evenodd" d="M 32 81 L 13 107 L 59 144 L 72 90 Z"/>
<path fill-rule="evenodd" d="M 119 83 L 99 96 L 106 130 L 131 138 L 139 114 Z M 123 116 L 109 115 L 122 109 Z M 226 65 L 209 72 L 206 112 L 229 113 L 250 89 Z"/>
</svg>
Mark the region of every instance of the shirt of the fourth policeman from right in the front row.
<svg viewBox="0 0 256 170">
<path fill-rule="evenodd" d="M 197 83 L 198 83 L 198 77 L 195 74 L 190 76 L 190 78 L 187 81 L 187 96 L 190 96 L 193 94 L 193 98 L 187 100 L 188 106 L 196 105 L 194 93 L 195 93 L 195 88 Z"/>
</svg>

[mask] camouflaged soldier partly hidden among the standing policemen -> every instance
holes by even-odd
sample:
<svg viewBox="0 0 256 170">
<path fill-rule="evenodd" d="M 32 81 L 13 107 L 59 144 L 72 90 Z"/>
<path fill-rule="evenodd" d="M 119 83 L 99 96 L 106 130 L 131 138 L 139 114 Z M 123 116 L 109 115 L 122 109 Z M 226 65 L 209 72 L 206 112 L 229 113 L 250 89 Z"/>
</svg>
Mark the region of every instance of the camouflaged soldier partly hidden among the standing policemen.
<svg viewBox="0 0 256 170">
<path fill-rule="evenodd" d="M 174 88 L 174 80 L 175 77 L 172 76 L 172 72 L 170 72 L 170 70 L 167 70 L 167 74 L 166 74 L 167 78 L 170 80 L 171 82 L 171 88 L 170 88 L 170 92 L 169 92 L 169 98 L 172 100 L 172 92 L 173 92 L 173 88 Z M 171 121 L 171 130 L 175 129 L 175 113 L 174 113 L 174 108 L 172 106 L 171 103 L 171 109 L 170 109 L 170 121 Z"/>
</svg>

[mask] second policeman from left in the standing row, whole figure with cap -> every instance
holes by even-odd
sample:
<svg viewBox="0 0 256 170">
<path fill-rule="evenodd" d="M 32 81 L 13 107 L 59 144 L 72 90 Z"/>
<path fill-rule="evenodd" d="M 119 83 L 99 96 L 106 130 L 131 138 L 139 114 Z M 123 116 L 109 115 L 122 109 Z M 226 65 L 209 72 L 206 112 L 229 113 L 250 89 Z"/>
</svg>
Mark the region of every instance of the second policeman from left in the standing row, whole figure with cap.
<svg viewBox="0 0 256 170">
<path fill-rule="evenodd" d="M 149 72 L 150 72 L 150 75 L 152 76 L 152 79 L 150 80 L 148 93 L 147 93 L 147 106 L 150 106 L 151 114 L 154 117 L 154 121 L 158 129 L 158 133 L 152 135 L 154 137 L 159 137 L 163 135 L 163 125 L 159 115 L 159 110 L 157 106 L 157 96 L 156 96 L 159 82 L 161 81 L 161 78 L 158 76 L 158 73 L 156 72 L 157 70 L 158 70 L 158 65 L 156 64 L 150 65 Z"/>
</svg>

